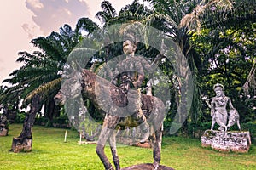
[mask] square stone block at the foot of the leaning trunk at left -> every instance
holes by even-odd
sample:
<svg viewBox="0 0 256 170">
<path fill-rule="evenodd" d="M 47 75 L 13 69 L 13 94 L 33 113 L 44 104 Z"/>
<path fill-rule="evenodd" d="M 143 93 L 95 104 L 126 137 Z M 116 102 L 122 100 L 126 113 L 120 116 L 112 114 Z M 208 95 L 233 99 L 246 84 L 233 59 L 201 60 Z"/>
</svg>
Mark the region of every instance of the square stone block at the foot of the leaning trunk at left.
<svg viewBox="0 0 256 170">
<path fill-rule="evenodd" d="M 20 151 L 31 151 L 32 150 L 32 139 L 13 138 L 12 149 L 15 153 Z"/>
</svg>

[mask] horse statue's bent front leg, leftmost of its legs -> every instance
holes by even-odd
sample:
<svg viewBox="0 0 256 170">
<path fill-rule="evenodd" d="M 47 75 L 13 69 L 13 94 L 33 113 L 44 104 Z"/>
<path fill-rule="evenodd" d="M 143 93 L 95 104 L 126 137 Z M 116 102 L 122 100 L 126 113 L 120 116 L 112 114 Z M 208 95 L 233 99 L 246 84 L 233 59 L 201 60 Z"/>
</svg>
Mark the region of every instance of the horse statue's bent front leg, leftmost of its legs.
<svg viewBox="0 0 256 170">
<path fill-rule="evenodd" d="M 96 147 L 96 153 L 100 157 L 106 170 L 107 169 L 113 170 L 113 167 L 111 163 L 108 161 L 108 157 L 105 155 L 105 152 L 104 152 L 105 144 L 108 140 L 108 137 L 110 136 L 111 131 L 112 131 L 111 129 L 103 125 L 100 137 L 98 139 L 98 144 Z"/>
</svg>

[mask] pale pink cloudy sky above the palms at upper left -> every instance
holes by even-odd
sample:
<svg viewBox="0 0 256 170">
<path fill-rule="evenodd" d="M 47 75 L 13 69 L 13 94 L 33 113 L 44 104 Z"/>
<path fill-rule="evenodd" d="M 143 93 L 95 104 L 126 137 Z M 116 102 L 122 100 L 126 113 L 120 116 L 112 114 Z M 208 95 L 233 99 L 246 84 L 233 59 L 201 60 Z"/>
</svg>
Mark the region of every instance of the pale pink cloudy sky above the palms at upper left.
<svg viewBox="0 0 256 170">
<path fill-rule="evenodd" d="M 79 18 L 95 15 L 103 0 L 8 0 L 0 1 L 0 85 L 9 74 L 19 69 L 18 53 L 38 50 L 33 38 L 49 36 L 50 32 L 68 24 L 74 29 Z M 108 0 L 119 12 L 133 0 Z"/>
</svg>

